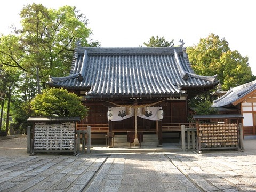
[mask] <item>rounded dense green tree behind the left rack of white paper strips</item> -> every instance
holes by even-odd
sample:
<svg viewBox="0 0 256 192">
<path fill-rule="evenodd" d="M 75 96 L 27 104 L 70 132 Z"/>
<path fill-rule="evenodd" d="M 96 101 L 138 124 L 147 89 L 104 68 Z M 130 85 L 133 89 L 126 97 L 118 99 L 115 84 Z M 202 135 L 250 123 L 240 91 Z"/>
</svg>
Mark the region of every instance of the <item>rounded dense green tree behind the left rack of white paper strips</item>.
<svg viewBox="0 0 256 192">
<path fill-rule="evenodd" d="M 35 115 L 60 117 L 76 117 L 81 119 L 87 115 L 87 108 L 80 98 L 66 89 L 46 89 L 43 94 L 37 94 L 31 101 L 31 109 Z"/>
</svg>

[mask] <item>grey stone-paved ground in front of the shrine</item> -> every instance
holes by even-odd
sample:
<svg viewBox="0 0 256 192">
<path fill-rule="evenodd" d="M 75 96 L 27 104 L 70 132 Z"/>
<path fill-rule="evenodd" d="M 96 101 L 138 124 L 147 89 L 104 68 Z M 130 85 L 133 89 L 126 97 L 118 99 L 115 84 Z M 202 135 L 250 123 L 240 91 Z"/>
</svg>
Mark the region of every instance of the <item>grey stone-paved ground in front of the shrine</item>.
<svg viewBox="0 0 256 192">
<path fill-rule="evenodd" d="M 256 153 L 0 157 L 0 191 L 256 191 Z"/>
</svg>

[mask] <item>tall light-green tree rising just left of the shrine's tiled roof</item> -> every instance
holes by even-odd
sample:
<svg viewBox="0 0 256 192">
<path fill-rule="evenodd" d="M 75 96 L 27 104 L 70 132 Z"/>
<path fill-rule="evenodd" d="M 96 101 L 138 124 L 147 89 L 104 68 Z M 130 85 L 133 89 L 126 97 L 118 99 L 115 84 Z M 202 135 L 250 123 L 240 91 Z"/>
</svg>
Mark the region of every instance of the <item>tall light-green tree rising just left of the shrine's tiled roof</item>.
<svg viewBox="0 0 256 192">
<path fill-rule="evenodd" d="M 76 7 L 63 6 L 55 10 L 32 4 L 23 7 L 20 17 L 23 28 L 17 33 L 21 35 L 22 47 L 28 55 L 24 65 L 36 79 L 38 93 L 49 74 L 69 73 L 78 40 L 84 46 L 100 46 L 99 42 L 90 44 L 92 31 L 86 27 L 85 15 L 80 14 Z"/>
</svg>

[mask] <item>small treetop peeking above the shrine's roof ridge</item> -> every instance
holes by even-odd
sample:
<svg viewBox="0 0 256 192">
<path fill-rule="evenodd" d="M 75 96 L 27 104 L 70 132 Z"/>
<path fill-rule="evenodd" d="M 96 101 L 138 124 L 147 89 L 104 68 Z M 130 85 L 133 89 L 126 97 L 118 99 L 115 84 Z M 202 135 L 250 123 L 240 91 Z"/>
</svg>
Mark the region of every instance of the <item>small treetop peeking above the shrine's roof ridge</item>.
<svg viewBox="0 0 256 192">
<path fill-rule="evenodd" d="M 174 43 L 173 43 L 173 39 L 172 41 L 166 41 L 166 39 L 164 37 L 158 37 L 158 35 L 156 37 L 152 36 L 148 43 L 144 42 L 143 45 L 145 45 L 146 47 L 173 47 Z M 140 46 L 142 47 L 142 46 Z"/>
</svg>

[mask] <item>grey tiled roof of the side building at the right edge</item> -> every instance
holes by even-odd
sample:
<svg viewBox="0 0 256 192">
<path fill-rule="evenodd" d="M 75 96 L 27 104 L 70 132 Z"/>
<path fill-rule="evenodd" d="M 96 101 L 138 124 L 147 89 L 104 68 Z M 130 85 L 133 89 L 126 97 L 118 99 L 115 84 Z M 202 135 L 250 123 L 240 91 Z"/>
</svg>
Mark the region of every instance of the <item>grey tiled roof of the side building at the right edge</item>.
<svg viewBox="0 0 256 192">
<path fill-rule="evenodd" d="M 231 88 L 225 95 L 213 101 L 212 107 L 236 106 L 256 90 L 256 80 Z"/>
</svg>

